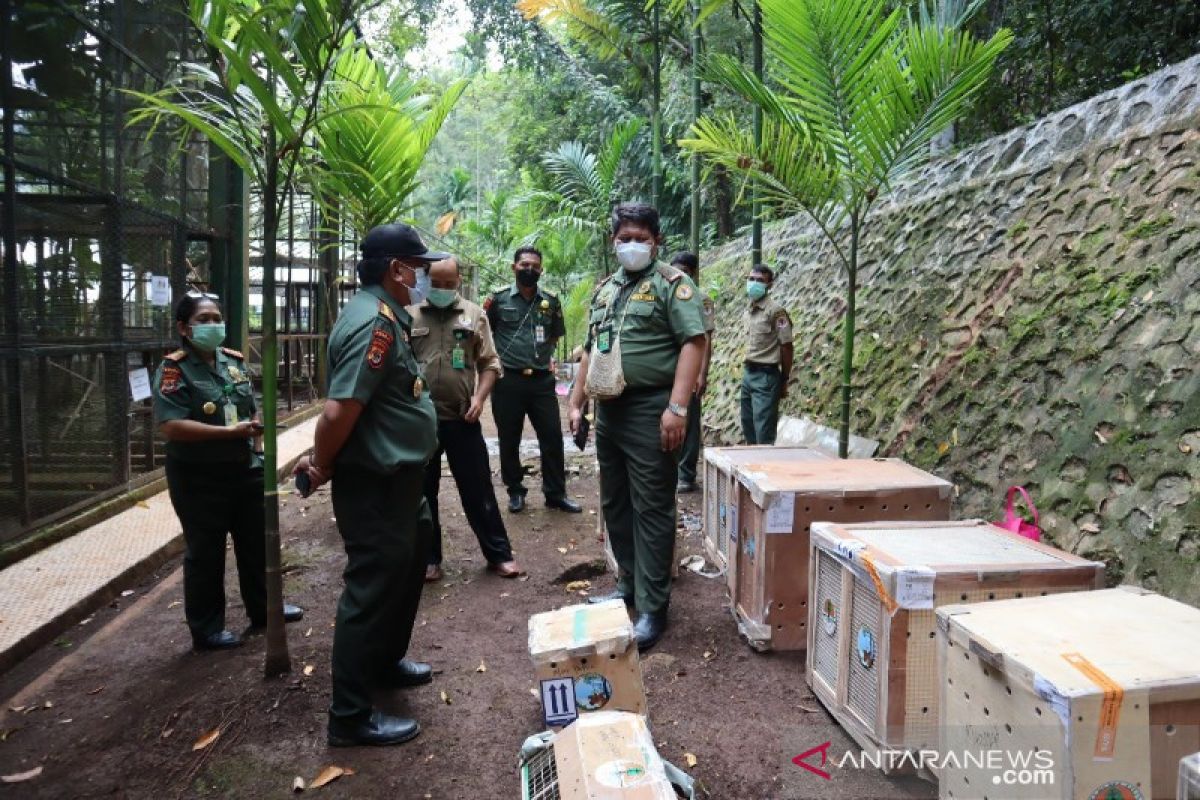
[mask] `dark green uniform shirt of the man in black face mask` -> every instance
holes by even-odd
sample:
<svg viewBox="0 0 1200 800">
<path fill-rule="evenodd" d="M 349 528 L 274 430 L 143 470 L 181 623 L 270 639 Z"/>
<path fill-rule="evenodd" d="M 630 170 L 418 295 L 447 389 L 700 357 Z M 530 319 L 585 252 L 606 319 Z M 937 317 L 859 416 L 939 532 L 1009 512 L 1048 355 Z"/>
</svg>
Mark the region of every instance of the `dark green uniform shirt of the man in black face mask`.
<svg viewBox="0 0 1200 800">
<path fill-rule="evenodd" d="M 526 300 L 511 285 L 492 294 L 484 308 L 505 369 L 550 369 L 554 342 L 566 333 L 558 297 L 539 287 Z"/>
</svg>

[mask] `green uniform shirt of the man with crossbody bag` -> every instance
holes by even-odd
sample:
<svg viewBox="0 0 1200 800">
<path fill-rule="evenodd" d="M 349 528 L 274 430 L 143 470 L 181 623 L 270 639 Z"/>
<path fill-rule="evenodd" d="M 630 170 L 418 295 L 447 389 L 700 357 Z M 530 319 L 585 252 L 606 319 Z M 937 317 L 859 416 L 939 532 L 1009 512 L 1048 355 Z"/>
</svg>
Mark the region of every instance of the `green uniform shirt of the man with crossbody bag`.
<svg viewBox="0 0 1200 800">
<path fill-rule="evenodd" d="M 588 341 L 601 329 L 620 342 L 620 366 L 630 389 L 670 389 L 684 342 L 706 332 L 704 305 L 682 270 L 655 264 L 636 275 L 622 267 L 592 295 Z"/>
</svg>

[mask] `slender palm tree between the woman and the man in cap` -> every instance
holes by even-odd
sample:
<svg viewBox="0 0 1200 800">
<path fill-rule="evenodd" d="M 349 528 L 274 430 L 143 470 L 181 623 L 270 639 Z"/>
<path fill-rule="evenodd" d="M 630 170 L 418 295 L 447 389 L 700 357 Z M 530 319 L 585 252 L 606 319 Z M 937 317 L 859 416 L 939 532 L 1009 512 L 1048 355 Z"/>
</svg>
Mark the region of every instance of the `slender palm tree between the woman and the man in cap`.
<svg viewBox="0 0 1200 800">
<path fill-rule="evenodd" d="M 263 444 L 266 533 L 268 676 L 289 672 L 283 627 L 280 506 L 276 492 L 275 242 L 293 180 L 308 155 L 325 84 L 354 44 L 362 0 L 191 0 L 188 13 L 209 64 L 180 65 L 181 78 L 155 94 L 130 125 L 167 119 L 194 130 L 250 173 L 263 192 Z M 335 112 L 336 113 L 336 112 Z"/>
</svg>

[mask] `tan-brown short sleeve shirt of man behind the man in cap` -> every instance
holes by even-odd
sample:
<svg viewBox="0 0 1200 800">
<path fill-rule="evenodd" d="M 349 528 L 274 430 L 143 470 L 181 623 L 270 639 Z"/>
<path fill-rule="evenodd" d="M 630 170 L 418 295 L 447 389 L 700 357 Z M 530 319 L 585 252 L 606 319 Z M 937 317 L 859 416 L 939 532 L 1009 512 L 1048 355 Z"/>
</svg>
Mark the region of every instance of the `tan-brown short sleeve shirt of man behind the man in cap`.
<svg viewBox="0 0 1200 800">
<path fill-rule="evenodd" d="M 458 297 L 448 308 L 409 306 L 413 353 L 428 381 L 439 420 L 461 420 L 475 393 L 475 375 L 500 372 L 484 309 Z"/>
</svg>

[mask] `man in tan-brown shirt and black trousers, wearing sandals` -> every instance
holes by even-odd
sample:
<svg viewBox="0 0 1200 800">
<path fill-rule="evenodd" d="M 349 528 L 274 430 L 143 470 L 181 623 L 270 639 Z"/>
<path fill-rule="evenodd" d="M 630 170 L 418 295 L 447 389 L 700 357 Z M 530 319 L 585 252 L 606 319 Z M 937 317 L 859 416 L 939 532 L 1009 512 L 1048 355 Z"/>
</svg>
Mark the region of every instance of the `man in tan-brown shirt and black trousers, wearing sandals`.
<svg viewBox="0 0 1200 800">
<path fill-rule="evenodd" d="M 484 403 L 500 375 L 500 359 L 487 315 L 458 295 L 460 283 L 457 261 L 452 258 L 438 261 L 430 267 L 428 299 L 408 308 L 413 317 L 413 351 L 421 362 L 438 411 L 438 449 L 425 468 L 425 499 L 433 515 L 434 531 L 425 579 L 442 578 L 438 488 L 443 452 L 458 486 L 467 522 L 487 559 L 487 569 L 500 577 L 515 578 L 523 572 L 512 560 L 512 546 L 496 503 L 492 469 L 479 425 Z"/>
</svg>

